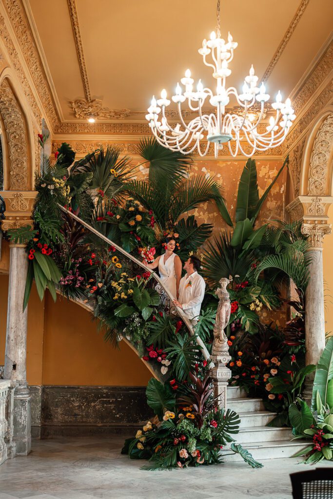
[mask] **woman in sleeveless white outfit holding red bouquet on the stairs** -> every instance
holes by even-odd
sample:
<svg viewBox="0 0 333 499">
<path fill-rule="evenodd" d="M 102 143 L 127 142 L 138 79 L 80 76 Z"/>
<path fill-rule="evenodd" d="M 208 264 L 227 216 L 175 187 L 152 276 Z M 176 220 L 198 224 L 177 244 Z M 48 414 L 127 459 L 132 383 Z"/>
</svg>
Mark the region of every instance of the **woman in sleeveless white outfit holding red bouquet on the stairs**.
<svg viewBox="0 0 333 499">
<path fill-rule="evenodd" d="M 153 263 L 148 263 L 148 268 L 156 268 L 158 271 L 163 286 L 169 291 L 172 297 L 179 298 L 179 282 L 182 274 L 182 262 L 178 255 L 175 254 L 176 241 L 172 236 L 166 238 L 165 253 L 158 256 Z M 158 287 L 158 286 L 157 286 Z M 170 300 L 167 296 L 162 297 L 162 303 L 170 305 Z"/>
</svg>

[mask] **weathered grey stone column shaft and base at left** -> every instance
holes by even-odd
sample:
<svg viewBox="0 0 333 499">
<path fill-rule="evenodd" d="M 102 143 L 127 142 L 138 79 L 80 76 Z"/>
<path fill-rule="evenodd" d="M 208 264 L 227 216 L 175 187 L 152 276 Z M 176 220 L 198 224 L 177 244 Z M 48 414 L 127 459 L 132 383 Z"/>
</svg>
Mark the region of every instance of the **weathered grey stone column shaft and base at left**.
<svg viewBox="0 0 333 499">
<path fill-rule="evenodd" d="M 30 395 L 26 381 L 27 308 L 23 311 L 28 260 L 24 245 L 10 245 L 9 288 L 7 306 L 4 379 L 14 388 L 12 408 L 12 441 L 16 455 L 31 450 Z"/>
</svg>

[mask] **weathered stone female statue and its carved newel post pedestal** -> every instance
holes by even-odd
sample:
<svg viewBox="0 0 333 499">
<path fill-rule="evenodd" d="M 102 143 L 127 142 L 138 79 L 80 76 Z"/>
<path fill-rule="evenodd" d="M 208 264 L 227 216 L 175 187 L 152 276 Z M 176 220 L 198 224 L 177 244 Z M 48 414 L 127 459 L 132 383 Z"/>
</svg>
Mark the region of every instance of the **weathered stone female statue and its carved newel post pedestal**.
<svg viewBox="0 0 333 499">
<path fill-rule="evenodd" d="M 231 311 L 230 297 L 227 291 L 230 280 L 222 277 L 219 282 L 221 287 L 215 291 L 219 298 L 219 304 L 216 311 L 211 355 L 214 367 L 211 369 L 210 376 L 213 380 L 214 398 L 217 405 L 226 407 L 228 380 L 231 378 L 231 370 L 226 367 L 226 364 L 231 360 L 231 357 L 229 355 L 228 338 L 224 330 L 228 325 Z"/>
</svg>

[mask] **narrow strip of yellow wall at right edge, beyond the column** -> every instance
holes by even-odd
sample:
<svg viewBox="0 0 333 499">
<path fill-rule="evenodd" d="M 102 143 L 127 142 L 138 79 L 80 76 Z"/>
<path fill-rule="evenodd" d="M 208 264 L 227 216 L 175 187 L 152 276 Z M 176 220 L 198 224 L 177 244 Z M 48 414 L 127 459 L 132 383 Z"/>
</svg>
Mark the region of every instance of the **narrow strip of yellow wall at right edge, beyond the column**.
<svg viewBox="0 0 333 499">
<path fill-rule="evenodd" d="M 329 224 L 333 224 L 333 205 L 329 209 Z M 333 334 L 333 234 L 324 237 L 323 266 L 324 266 L 324 302 L 325 302 L 325 331 Z"/>
</svg>

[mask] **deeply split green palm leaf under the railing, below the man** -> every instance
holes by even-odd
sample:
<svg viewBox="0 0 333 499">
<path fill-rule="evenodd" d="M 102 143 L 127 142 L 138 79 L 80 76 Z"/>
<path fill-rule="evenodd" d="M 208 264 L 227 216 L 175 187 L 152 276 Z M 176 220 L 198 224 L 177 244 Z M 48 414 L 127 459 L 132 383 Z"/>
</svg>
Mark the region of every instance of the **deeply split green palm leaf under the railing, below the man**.
<svg viewBox="0 0 333 499">
<path fill-rule="evenodd" d="M 182 381 L 194 370 L 195 364 L 199 361 L 198 345 L 195 337 L 187 334 L 183 336 L 178 334 L 175 341 L 169 341 L 169 345 L 165 351 L 168 352 L 168 359 L 173 363 L 177 379 Z"/>
</svg>

